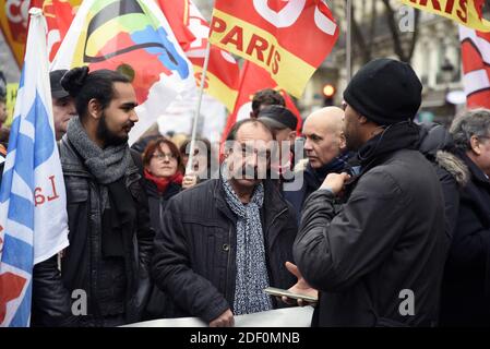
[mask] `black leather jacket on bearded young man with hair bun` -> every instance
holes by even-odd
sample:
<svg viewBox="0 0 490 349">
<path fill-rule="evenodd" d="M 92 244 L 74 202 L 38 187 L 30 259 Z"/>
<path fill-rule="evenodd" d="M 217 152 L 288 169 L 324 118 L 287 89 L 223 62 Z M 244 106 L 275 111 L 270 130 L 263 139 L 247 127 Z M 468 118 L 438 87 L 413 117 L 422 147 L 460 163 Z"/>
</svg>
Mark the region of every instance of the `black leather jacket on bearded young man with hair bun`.
<svg viewBox="0 0 490 349">
<path fill-rule="evenodd" d="M 33 273 L 33 325 L 72 326 L 104 325 L 99 316 L 100 298 L 120 292 L 113 286 L 100 289 L 110 277 L 109 262 L 101 257 L 101 209 L 100 185 L 83 165 L 82 158 L 64 136 L 60 142 L 60 158 L 67 190 L 67 210 L 70 245 L 63 251 L 61 273 L 57 255 L 37 264 Z M 126 322 L 136 322 L 145 306 L 150 292 L 150 263 L 153 250 L 154 230 L 150 227 L 147 197 L 142 189 L 140 169 L 133 164 L 124 174 L 127 189 L 136 205 L 136 222 L 131 237 L 124 237 L 126 278 L 132 289 L 124 290 Z M 101 275 L 104 269 L 105 275 Z M 129 272 L 129 273 L 128 273 Z M 107 276 L 106 276 L 107 275 Z M 129 282 L 129 281 L 128 281 Z M 87 294 L 88 316 L 72 315 L 73 290 L 81 289 Z"/>
</svg>

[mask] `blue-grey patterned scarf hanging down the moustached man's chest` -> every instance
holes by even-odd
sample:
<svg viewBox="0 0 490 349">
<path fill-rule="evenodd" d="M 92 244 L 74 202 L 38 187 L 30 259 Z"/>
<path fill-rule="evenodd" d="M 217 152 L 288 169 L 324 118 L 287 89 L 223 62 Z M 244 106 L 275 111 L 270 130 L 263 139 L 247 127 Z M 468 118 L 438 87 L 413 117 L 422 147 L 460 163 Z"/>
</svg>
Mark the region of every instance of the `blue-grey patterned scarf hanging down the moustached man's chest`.
<svg viewBox="0 0 490 349">
<path fill-rule="evenodd" d="M 263 291 L 268 286 L 260 215 L 264 203 L 264 186 L 262 183 L 258 185 L 250 203 L 243 205 L 229 182 L 224 177 L 222 180 L 226 203 L 238 217 L 234 313 L 240 315 L 271 310 L 271 297 Z"/>
</svg>

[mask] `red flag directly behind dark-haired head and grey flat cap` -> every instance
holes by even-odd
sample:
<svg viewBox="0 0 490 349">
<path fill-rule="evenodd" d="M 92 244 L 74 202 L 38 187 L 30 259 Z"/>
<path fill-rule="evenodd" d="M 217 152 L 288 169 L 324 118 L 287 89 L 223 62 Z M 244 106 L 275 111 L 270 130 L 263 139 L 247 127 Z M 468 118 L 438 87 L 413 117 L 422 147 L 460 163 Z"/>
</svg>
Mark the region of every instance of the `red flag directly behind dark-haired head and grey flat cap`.
<svg viewBox="0 0 490 349">
<path fill-rule="evenodd" d="M 258 91 L 264 88 L 274 88 L 279 91 L 286 101 L 286 108 L 292 111 L 298 119 L 296 131 L 299 132 L 301 130 L 301 115 L 289 95 L 285 91 L 278 88 L 276 82 L 271 77 L 271 74 L 265 69 L 260 68 L 250 61 L 246 61 L 240 72 L 240 88 L 238 92 L 237 104 L 235 105 L 234 112 L 229 115 L 226 122 L 225 131 L 222 136 L 223 141 L 226 140 L 229 130 L 237 121 L 250 118 L 253 95 Z"/>
</svg>

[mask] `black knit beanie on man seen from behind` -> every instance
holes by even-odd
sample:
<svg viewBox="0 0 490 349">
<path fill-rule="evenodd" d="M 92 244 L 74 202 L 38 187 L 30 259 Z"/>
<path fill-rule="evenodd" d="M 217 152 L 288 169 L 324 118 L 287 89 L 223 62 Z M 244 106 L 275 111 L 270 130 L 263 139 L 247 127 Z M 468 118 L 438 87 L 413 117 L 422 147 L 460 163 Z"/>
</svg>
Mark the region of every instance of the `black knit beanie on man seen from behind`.
<svg viewBox="0 0 490 349">
<path fill-rule="evenodd" d="M 422 101 L 422 84 L 407 63 L 375 59 L 362 67 L 344 91 L 344 100 L 380 124 L 414 119 Z"/>
</svg>

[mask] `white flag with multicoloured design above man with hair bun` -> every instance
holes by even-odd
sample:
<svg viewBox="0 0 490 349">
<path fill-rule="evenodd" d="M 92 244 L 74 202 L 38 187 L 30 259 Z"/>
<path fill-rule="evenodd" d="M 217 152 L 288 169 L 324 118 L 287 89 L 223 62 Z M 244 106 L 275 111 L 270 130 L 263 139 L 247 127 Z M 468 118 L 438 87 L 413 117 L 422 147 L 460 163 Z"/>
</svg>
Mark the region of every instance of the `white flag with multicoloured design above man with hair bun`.
<svg viewBox="0 0 490 349">
<path fill-rule="evenodd" d="M 192 65 L 154 0 L 85 0 L 51 70 L 88 65 L 117 70 L 136 92 L 134 143 L 183 91 L 195 88 Z"/>
</svg>

